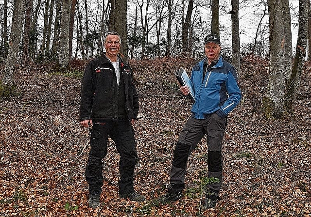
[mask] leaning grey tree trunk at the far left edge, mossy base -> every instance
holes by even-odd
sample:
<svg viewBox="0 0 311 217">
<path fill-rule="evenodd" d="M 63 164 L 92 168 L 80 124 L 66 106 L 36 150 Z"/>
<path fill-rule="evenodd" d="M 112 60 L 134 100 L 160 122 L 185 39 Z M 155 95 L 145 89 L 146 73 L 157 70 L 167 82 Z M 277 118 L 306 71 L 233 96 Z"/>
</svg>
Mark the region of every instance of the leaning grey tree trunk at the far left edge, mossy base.
<svg viewBox="0 0 311 217">
<path fill-rule="evenodd" d="M 22 27 L 25 18 L 25 10 L 26 10 L 26 1 L 25 0 L 17 0 L 16 1 L 16 9 L 13 17 L 13 25 L 11 29 L 11 35 L 9 40 L 9 50 L 5 63 L 4 73 L 2 77 L 2 81 L 0 84 L 0 95 L 8 96 L 13 93 L 14 89 L 14 77 L 13 72 L 15 72 L 15 67 L 17 63 L 18 57 L 18 48 L 20 43 L 20 36 L 22 32 Z M 4 95 L 7 93 L 8 95 Z"/>
</svg>

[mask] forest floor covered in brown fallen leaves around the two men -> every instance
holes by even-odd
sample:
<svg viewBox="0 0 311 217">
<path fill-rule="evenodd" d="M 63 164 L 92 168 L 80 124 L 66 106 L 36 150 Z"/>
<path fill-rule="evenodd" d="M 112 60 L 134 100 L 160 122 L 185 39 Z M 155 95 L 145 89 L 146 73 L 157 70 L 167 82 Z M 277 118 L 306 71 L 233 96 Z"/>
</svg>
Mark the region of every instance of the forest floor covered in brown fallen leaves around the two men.
<svg viewBox="0 0 311 217">
<path fill-rule="evenodd" d="M 185 196 L 161 204 L 178 134 L 190 115 L 174 78 L 192 59 L 131 61 L 140 110 L 134 125 L 139 162 L 135 189 L 145 202 L 118 196 L 119 155 L 108 142 L 101 205 L 87 207 L 84 177 L 89 140 L 78 122 L 84 64 L 15 71 L 19 95 L 0 99 L 0 217 L 309 217 L 311 216 L 311 62 L 305 63 L 294 115 L 267 118 L 260 100 L 269 62 L 242 59 L 242 102 L 228 117 L 224 180 L 215 209 L 203 207 L 207 145 L 190 155 Z"/>
</svg>

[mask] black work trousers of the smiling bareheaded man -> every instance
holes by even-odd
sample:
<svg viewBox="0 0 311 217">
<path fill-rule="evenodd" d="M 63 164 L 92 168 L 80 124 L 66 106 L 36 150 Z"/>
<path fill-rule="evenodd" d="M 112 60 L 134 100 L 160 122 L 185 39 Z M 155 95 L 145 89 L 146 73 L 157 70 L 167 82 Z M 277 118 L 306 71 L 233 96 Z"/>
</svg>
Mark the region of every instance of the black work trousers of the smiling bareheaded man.
<svg viewBox="0 0 311 217">
<path fill-rule="evenodd" d="M 116 143 L 120 154 L 119 193 L 134 191 L 134 169 L 138 160 L 134 130 L 126 120 L 93 120 L 90 129 L 91 150 L 86 164 L 86 181 L 89 194 L 101 194 L 103 186 L 103 162 L 107 155 L 108 136 Z"/>
</svg>

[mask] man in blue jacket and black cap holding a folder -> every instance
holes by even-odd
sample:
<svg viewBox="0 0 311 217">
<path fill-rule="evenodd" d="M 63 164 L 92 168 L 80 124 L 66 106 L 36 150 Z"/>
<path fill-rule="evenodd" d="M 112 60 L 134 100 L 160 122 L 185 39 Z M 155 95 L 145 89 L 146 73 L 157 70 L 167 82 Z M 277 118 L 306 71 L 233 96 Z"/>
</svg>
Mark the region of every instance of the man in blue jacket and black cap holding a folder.
<svg viewBox="0 0 311 217">
<path fill-rule="evenodd" d="M 195 103 L 175 146 L 168 192 L 161 196 L 160 201 L 177 201 L 182 197 L 188 157 L 207 135 L 208 177 L 214 177 L 217 181 L 208 186 L 205 206 L 213 208 L 219 200 L 223 177 L 222 141 L 226 117 L 239 104 L 241 91 L 235 68 L 220 56 L 219 36 L 207 35 L 204 44 L 206 58 L 193 66 L 190 77 Z M 182 86 L 180 91 L 187 96 L 189 87 Z"/>
</svg>

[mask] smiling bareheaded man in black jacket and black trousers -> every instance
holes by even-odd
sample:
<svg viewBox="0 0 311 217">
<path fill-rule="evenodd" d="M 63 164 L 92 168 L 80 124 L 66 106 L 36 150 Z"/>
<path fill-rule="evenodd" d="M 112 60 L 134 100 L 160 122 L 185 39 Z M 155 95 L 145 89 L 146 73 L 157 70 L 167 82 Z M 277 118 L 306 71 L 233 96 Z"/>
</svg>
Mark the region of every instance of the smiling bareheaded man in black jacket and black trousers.
<svg viewBox="0 0 311 217">
<path fill-rule="evenodd" d="M 138 95 L 132 69 L 118 57 L 120 45 L 120 35 L 108 32 L 104 39 L 106 51 L 87 64 L 82 80 L 79 119 L 80 124 L 90 130 L 86 181 L 88 204 L 92 208 L 100 204 L 102 159 L 107 155 L 108 136 L 114 140 L 120 154 L 120 198 L 145 200 L 133 186 L 138 156 L 132 125 L 138 114 Z"/>
</svg>

